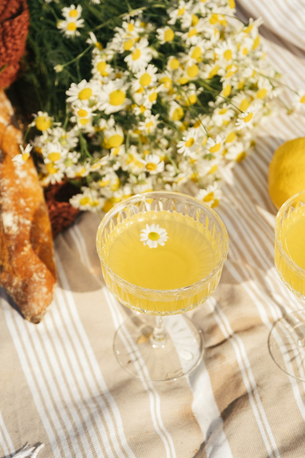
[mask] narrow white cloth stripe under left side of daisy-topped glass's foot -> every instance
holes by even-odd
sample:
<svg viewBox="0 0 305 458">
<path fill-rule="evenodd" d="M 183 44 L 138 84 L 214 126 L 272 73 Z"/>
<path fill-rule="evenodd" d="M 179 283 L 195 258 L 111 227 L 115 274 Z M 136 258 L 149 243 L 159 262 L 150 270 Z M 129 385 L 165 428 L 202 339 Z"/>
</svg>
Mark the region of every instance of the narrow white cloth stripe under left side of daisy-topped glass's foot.
<svg viewBox="0 0 305 458">
<path fill-rule="evenodd" d="M 70 234 L 75 241 L 75 245 L 80 253 L 82 253 L 82 259 L 84 260 L 85 265 L 87 265 L 87 268 L 92 271 L 92 265 L 89 259 L 89 256 L 87 254 L 87 248 L 86 248 L 86 242 L 82 237 L 82 234 L 80 232 L 80 229 L 77 227 L 74 227 L 70 229 Z M 86 260 L 86 261 L 85 261 Z M 102 286 L 103 293 L 106 296 L 107 303 L 109 305 L 109 309 L 112 311 L 118 311 L 118 304 L 114 296 L 108 291 L 106 286 L 100 281 L 100 279 L 94 275 L 96 278 L 97 282 Z M 116 329 L 118 328 L 118 324 L 122 322 L 122 317 L 120 316 L 119 318 L 116 318 L 114 321 L 114 324 L 117 326 Z M 131 341 L 128 339 L 128 335 L 125 333 L 125 335 L 121 336 L 123 337 L 124 344 L 125 345 L 131 345 Z M 129 343 L 128 343 L 129 342 Z M 144 364 L 143 359 L 140 357 L 139 354 L 139 361 L 141 361 L 141 367 L 137 364 L 135 367 L 137 371 L 139 371 L 139 376 L 141 378 L 146 378 L 146 381 L 142 380 L 144 389 L 147 391 L 149 394 L 150 398 L 150 407 L 151 407 L 151 415 L 152 415 L 152 421 L 154 424 L 154 427 L 158 433 L 158 435 L 161 437 L 161 440 L 164 443 L 164 446 L 166 447 L 166 454 L 168 457 L 172 456 L 173 458 L 176 457 L 176 452 L 175 452 L 175 447 L 173 440 L 171 438 L 171 435 L 168 433 L 166 430 L 165 426 L 163 425 L 163 421 L 161 419 L 161 410 L 160 410 L 160 396 L 155 390 L 155 387 L 151 382 L 149 382 L 147 379 L 149 378 L 149 373 L 147 371 L 147 368 Z M 142 373 L 144 371 L 144 374 Z"/>
</svg>

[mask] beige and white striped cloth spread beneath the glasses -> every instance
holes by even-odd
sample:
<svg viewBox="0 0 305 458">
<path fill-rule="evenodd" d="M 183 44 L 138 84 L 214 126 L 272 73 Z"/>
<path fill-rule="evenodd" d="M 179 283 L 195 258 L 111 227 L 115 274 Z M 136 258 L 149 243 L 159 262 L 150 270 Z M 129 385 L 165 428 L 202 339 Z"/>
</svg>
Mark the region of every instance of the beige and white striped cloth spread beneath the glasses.
<svg viewBox="0 0 305 458">
<path fill-rule="evenodd" d="M 304 0 L 242 0 L 238 14 L 263 17 L 268 59 L 305 88 Z M 274 268 L 268 164 L 304 135 L 304 116 L 266 120 L 256 152 L 226 177 L 217 211 L 229 256 L 214 295 L 188 312 L 207 345 L 190 376 L 141 382 L 115 360 L 125 310 L 102 279 L 94 214 L 55 239 L 58 287 L 42 323 L 25 322 L 1 290 L 1 458 L 27 442 L 45 444 L 39 458 L 305 457 L 305 384 L 278 369 L 267 345 L 273 322 L 304 307 Z"/>
</svg>

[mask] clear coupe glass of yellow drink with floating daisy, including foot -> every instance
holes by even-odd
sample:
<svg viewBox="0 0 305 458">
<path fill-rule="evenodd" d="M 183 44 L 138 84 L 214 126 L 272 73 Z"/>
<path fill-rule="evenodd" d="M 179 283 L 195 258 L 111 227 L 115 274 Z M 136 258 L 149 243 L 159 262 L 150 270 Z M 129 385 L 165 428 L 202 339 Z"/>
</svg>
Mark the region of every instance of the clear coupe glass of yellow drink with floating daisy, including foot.
<svg viewBox="0 0 305 458">
<path fill-rule="evenodd" d="M 193 370 L 203 356 L 203 336 L 181 313 L 201 305 L 219 283 L 228 234 L 217 213 L 176 192 L 138 194 L 104 216 L 96 247 L 107 288 L 136 312 L 115 333 L 118 363 L 153 381 Z M 188 284 L 191 271 L 196 281 Z"/>
</svg>

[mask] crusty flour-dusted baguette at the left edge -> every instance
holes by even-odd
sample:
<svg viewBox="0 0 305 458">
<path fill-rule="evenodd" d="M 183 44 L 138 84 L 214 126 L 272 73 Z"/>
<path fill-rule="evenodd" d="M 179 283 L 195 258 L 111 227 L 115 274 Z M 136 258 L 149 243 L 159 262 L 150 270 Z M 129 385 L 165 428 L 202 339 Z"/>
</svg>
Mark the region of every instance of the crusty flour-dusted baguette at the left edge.
<svg viewBox="0 0 305 458">
<path fill-rule="evenodd" d="M 12 161 L 22 142 L 12 116 L 0 90 L 0 286 L 27 320 L 39 323 L 56 284 L 53 239 L 32 158 Z"/>
</svg>

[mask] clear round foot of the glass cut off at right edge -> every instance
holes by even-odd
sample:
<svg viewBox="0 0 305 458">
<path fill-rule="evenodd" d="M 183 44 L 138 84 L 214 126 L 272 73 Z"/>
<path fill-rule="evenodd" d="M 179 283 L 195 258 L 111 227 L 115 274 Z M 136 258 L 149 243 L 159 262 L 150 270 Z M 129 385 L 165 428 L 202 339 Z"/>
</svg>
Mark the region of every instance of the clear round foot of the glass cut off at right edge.
<svg viewBox="0 0 305 458">
<path fill-rule="evenodd" d="M 288 313 L 275 322 L 268 347 L 282 371 L 305 382 L 305 310 Z"/>
</svg>

